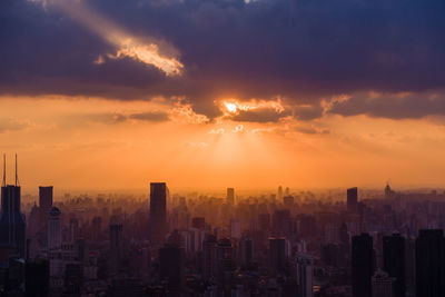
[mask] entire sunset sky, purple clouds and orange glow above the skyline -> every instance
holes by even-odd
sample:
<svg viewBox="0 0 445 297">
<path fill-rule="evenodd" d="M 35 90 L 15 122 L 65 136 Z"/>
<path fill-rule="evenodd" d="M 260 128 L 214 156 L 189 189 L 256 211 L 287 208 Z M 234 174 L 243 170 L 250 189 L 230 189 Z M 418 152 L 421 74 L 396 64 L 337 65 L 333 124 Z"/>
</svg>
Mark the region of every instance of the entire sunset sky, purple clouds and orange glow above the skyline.
<svg viewBox="0 0 445 297">
<path fill-rule="evenodd" d="M 443 187 L 442 0 L 2 0 L 24 189 Z"/>
</svg>

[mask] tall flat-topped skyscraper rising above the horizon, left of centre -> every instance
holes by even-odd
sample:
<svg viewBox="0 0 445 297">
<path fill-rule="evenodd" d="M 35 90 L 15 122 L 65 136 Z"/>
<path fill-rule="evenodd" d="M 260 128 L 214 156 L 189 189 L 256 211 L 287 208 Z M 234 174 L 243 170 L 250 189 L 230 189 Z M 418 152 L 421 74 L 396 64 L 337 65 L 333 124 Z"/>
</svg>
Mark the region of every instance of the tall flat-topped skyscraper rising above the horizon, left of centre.
<svg viewBox="0 0 445 297">
<path fill-rule="evenodd" d="M 150 184 L 150 239 L 159 246 L 167 234 L 167 192 L 166 182 Z"/>
</svg>

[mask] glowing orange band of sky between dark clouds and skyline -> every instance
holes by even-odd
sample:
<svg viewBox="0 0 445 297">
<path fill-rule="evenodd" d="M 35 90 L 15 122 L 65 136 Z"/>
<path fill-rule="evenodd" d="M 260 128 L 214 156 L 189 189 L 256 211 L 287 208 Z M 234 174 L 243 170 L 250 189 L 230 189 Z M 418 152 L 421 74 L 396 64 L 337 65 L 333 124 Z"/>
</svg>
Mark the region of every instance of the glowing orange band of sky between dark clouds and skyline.
<svg viewBox="0 0 445 297">
<path fill-rule="evenodd" d="M 388 179 L 398 187 L 444 185 L 445 126 L 438 118 L 325 115 L 261 123 L 231 119 L 243 109 L 279 109 L 280 100 L 215 105 L 222 116 L 209 120 L 179 99 L 3 97 L 0 151 L 8 181 L 17 152 L 29 191 L 39 185 L 140 189 L 159 180 L 174 190 L 382 187 Z"/>
</svg>

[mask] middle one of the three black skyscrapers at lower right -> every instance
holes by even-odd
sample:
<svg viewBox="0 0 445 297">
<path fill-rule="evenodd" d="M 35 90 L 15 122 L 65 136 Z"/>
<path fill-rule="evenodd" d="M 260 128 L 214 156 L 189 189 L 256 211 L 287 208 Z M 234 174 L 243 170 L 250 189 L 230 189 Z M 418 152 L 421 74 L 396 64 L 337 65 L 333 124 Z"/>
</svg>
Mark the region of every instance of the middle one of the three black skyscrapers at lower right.
<svg viewBox="0 0 445 297">
<path fill-rule="evenodd" d="M 394 278 L 394 297 L 405 297 L 405 238 L 399 234 L 383 238 L 383 269 Z"/>
</svg>

